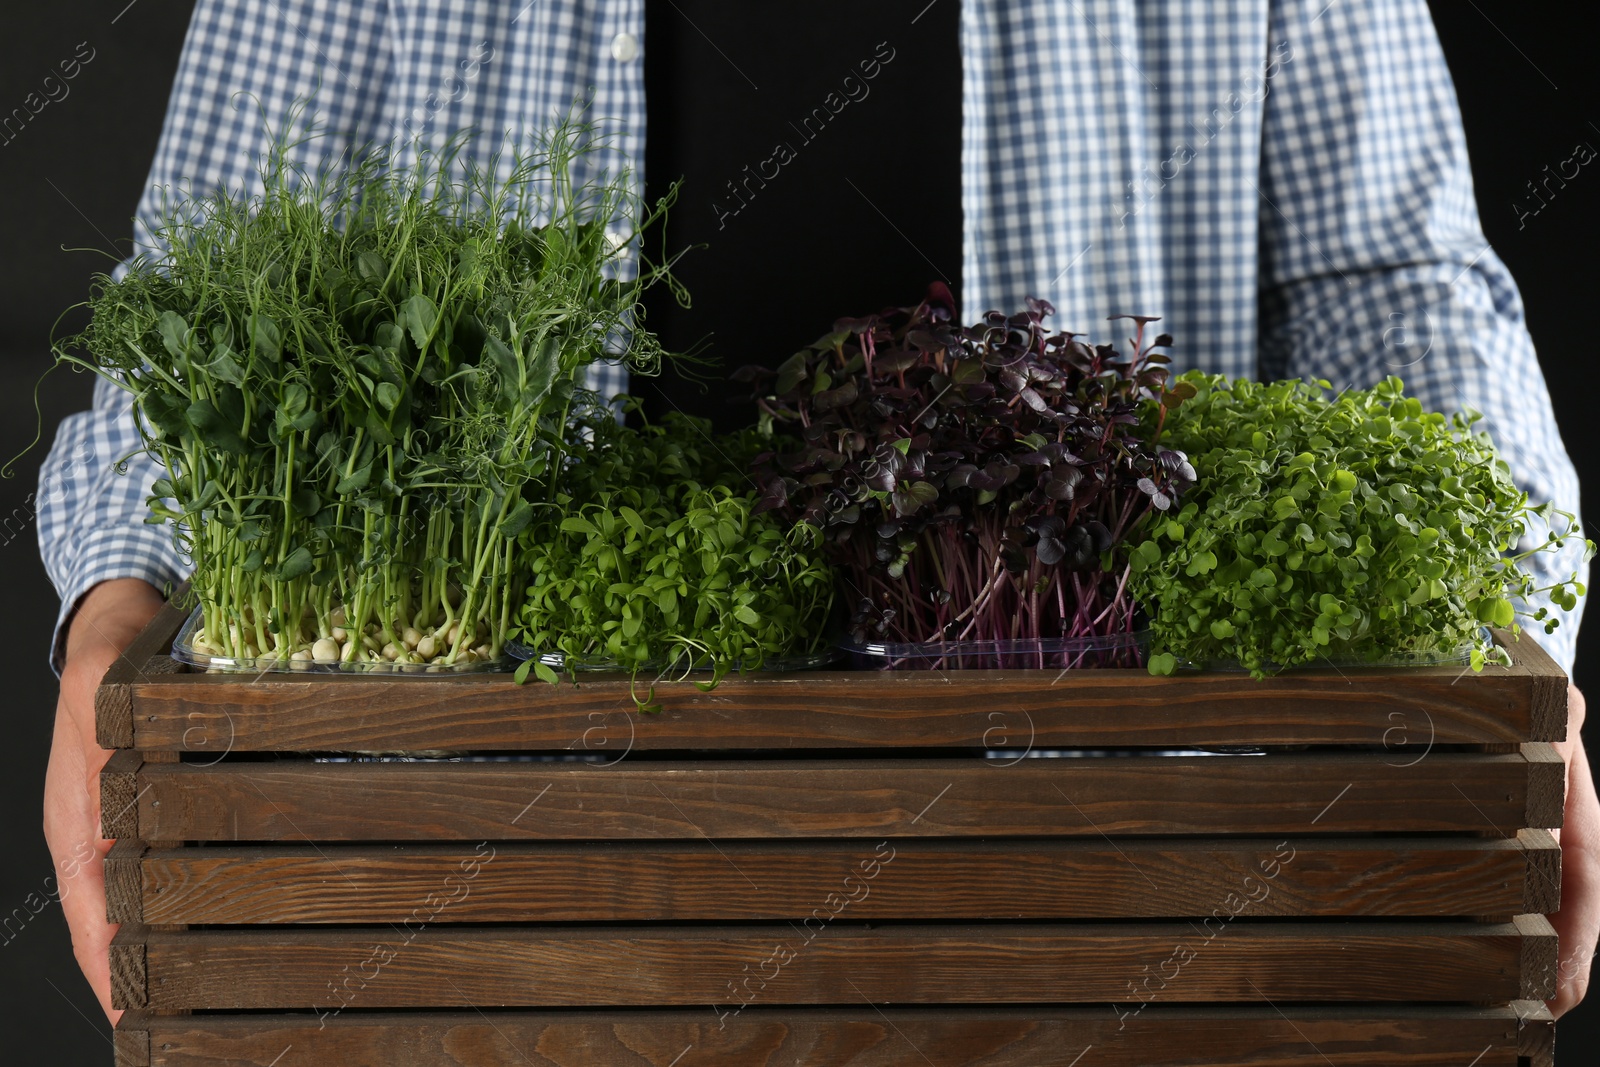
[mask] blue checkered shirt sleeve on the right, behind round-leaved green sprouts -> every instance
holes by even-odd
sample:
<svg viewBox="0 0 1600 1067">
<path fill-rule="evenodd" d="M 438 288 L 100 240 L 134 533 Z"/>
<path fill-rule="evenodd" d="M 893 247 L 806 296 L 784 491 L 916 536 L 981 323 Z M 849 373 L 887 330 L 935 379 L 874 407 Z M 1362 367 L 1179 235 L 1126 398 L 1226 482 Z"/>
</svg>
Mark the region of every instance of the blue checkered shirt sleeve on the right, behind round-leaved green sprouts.
<svg viewBox="0 0 1600 1067">
<path fill-rule="evenodd" d="M 1427 5 L 1280 0 L 1270 37 L 1294 61 L 1272 86 L 1262 130 L 1261 376 L 1342 389 L 1395 374 L 1429 410 L 1482 413 L 1531 501 L 1578 515 L 1578 474 L 1522 296 L 1478 222 Z M 1523 547 L 1544 536 L 1531 531 Z M 1528 566 L 1539 587 L 1587 577 L 1576 537 Z M 1582 603 L 1550 611 L 1560 627 L 1530 633 L 1571 672 Z"/>
</svg>

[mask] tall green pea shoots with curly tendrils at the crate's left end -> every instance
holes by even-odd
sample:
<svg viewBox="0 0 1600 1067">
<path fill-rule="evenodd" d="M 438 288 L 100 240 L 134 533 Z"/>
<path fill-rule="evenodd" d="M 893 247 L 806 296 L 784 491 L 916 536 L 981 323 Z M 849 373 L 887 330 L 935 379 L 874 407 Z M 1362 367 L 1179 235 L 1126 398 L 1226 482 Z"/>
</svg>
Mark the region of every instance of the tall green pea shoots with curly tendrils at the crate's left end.
<svg viewBox="0 0 1600 1067">
<path fill-rule="evenodd" d="M 664 357 L 632 326 L 670 274 L 621 277 L 677 190 L 646 210 L 626 168 L 578 181 L 605 138 L 576 117 L 504 176 L 501 152 L 461 157 L 464 134 L 414 170 L 371 152 L 310 173 L 299 117 L 259 197 L 163 206 L 165 253 L 98 275 L 56 358 L 133 395 L 165 467 L 147 522 L 194 561 L 211 651 L 421 669 L 426 632 L 435 665 L 498 657 L 514 542 L 557 501 L 579 376 Z"/>
</svg>

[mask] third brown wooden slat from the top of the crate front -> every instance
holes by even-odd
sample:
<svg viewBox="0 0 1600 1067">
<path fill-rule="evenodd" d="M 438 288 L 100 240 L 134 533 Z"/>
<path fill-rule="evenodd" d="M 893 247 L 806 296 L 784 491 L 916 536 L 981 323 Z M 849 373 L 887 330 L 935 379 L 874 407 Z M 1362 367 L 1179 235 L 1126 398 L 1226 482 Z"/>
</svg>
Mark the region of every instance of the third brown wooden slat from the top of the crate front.
<svg viewBox="0 0 1600 1067">
<path fill-rule="evenodd" d="M 661 841 L 152 849 L 110 877 L 152 923 L 1512 917 L 1558 907 L 1560 849 L 1515 840 Z M 122 848 L 122 845 L 118 845 Z M 114 849 L 114 857 L 115 857 Z M 885 862 L 886 861 L 886 862 Z M 1554 872 L 1554 878 L 1552 878 Z M 134 899 L 123 901 L 131 893 Z M 1530 902 L 1536 907 L 1530 907 Z M 1554 904 L 1554 905 L 1552 905 Z M 120 917 L 120 918 L 118 918 Z"/>
</svg>

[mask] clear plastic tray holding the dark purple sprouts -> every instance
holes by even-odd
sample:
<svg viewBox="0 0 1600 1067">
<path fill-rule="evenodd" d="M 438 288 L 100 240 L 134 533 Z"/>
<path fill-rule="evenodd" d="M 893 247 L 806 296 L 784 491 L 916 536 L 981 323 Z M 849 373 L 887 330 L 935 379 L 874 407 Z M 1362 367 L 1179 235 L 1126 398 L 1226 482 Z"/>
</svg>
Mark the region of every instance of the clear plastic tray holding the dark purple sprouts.
<svg viewBox="0 0 1600 1067">
<path fill-rule="evenodd" d="M 992 641 L 854 641 L 840 649 L 864 670 L 1072 670 L 1142 667 L 1149 630 L 1104 637 L 1037 637 Z"/>
</svg>

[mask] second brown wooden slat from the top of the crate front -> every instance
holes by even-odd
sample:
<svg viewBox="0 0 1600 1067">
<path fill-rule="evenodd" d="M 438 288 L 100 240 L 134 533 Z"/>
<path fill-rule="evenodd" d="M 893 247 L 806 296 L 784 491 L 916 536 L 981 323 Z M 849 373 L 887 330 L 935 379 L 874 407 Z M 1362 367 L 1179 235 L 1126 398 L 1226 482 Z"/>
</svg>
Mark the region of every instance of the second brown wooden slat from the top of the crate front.
<svg viewBox="0 0 1600 1067">
<path fill-rule="evenodd" d="M 1530 761 L 1533 758 L 1534 761 Z M 181 841 L 1368 833 L 1560 822 L 1539 753 L 1021 760 L 146 765 L 138 835 Z M 1558 787 L 1558 782 L 1557 782 Z"/>
</svg>

